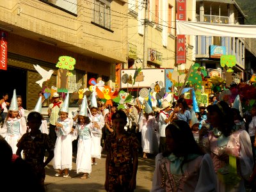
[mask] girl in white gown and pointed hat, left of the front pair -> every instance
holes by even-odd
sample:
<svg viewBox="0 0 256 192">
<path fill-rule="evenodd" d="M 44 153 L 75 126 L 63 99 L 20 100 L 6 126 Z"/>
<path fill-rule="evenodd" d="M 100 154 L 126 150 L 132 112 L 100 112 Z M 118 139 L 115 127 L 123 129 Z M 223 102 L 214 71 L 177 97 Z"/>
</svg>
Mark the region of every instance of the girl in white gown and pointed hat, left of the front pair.
<svg viewBox="0 0 256 192">
<path fill-rule="evenodd" d="M 72 170 L 72 118 L 68 118 L 68 100 L 69 94 L 60 109 L 60 117 L 56 122 L 56 135 L 57 140 L 54 148 L 54 158 L 52 159 L 52 166 L 55 170 L 56 177 L 62 175 L 68 177 L 68 170 Z"/>
</svg>

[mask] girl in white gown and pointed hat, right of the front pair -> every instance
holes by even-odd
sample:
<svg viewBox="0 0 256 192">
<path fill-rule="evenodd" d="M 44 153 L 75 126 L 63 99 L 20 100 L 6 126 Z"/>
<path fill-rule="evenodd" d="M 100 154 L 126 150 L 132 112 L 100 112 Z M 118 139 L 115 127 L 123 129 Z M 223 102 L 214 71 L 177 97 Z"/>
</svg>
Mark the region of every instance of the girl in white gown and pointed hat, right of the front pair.
<svg viewBox="0 0 256 192">
<path fill-rule="evenodd" d="M 77 158 L 76 158 L 76 172 L 84 173 L 81 179 L 87 179 L 89 174 L 92 172 L 92 158 L 91 158 L 91 147 L 92 147 L 92 136 L 91 131 L 93 129 L 92 123 L 87 113 L 87 100 L 84 95 L 81 109 L 79 110 L 78 121 L 74 134 L 78 135 L 77 141 Z"/>
</svg>

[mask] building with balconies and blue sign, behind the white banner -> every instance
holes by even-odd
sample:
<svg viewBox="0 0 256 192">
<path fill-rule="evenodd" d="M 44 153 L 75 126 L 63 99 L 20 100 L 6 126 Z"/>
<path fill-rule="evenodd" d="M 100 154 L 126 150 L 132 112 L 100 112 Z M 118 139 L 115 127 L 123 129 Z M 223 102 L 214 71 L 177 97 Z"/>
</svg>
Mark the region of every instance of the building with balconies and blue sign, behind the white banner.
<svg viewBox="0 0 256 192">
<path fill-rule="evenodd" d="M 232 0 L 196 0 L 196 21 L 220 24 L 244 24 L 244 13 L 236 1 Z M 245 69 L 244 38 L 228 36 L 196 36 L 196 62 L 205 67 L 211 76 L 215 70 L 225 79 L 225 70 L 220 66 L 221 55 L 236 56 L 233 77 L 236 81 L 243 79 Z"/>
</svg>

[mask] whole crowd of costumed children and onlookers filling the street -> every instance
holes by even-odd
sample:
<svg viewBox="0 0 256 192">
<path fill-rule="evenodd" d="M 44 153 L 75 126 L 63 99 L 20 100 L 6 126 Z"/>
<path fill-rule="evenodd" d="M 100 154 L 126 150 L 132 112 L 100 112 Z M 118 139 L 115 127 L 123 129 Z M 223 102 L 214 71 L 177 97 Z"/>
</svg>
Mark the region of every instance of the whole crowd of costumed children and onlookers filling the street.
<svg viewBox="0 0 256 192">
<path fill-rule="evenodd" d="M 67 178 L 72 157 L 81 179 L 90 179 L 103 150 L 106 191 L 136 189 L 140 154 L 156 159 L 151 191 L 256 190 L 255 104 L 241 111 L 212 95 L 208 106 L 181 96 L 154 108 L 138 98 L 119 108 L 92 97 L 84 95 L 70 118 L 69 94 L 60 100 L 54 93 L 48 127 L 42 96 L 25 117 L 15 90 L 11 102 L 3 94 L 0 161 L 6 174 L 0 180 L 12 184 L 11 191 L 44 191 L 45 166 L 52 161 L 55 176 Z"/>
</svg>

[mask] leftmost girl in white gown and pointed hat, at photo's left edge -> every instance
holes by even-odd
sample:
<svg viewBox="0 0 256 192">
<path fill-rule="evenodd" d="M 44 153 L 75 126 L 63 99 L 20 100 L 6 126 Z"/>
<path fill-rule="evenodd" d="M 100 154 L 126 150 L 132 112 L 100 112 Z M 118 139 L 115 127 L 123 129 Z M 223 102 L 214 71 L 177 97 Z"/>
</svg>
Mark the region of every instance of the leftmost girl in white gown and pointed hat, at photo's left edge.
<svg viewBox="0 0 256 192">
<path fill-rule="evenodd" d="M 16 154 L 18 140 L 27 131 L 26 120 L 24 117 L 19 115 L 19 107 L 17 104 L 16 91 L 13 91 L 12 102 L 6 116 L 6 121 L 2 129 L 0 129 L 0 134 L 5 138 L 7 143 L 12 147 L 13 154 Z"/>
</svg>

